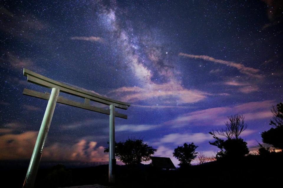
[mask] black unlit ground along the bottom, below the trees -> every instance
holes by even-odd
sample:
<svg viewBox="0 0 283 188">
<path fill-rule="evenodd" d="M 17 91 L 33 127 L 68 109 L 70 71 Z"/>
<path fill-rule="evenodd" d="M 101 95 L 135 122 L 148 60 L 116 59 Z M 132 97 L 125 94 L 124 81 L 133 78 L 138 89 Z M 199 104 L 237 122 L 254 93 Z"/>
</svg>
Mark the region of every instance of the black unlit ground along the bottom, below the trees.
<svg viewBox="0 0 283 188">
<path fill-rule="evenodd" d="M 249 155 L 241 160 L 209 162 L 177 170 L 155 169 L 151 165 L 117 165 L 114 187 L 191 187 L 264 186 L 282 181 L 282 153 L 262 157 Z M 22 187 L 27 167 L 3 166 L 1 187 Z M 108 165 L 65 168 L 56 165 L 40 169 L 35 187 L 53 188 L 75 185 L 108 185 Z"/>
</svg>

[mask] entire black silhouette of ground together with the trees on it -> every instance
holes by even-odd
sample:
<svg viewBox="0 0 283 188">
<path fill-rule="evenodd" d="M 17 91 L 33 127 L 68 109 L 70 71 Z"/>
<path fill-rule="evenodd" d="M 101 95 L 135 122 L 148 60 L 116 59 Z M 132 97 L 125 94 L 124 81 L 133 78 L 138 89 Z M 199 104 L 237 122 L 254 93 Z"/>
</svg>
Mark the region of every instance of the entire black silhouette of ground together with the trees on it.
<svg viewBox="0 0 283 188">
<path fill-rule="evenodd" d="M 197 145 L 184 143 L 173 152 L 180 164 L 176 170 L 157 169 L 140 162 L 148 161 L 157 150 L 142 139 L 128 138 L 116 143 L 116 156 L 126 165 L 116 165 L 114 187 L 191 187 L 191 186 L 264 186 L 281 181 L 283 167 L 283 104 L 273 106 L 271 128 L 261 133 L 258 153 L 250 154 L 247 143 L 241 138 L 247 124 L 243 115 L 231 115 L 225 126 L 212 130 L 215 139 L 208 144 L 218 148 L 214 157 L 196 152 Z M 105 148 L 108 152 L 108 148 Z M 198 165 L 192 165 L 197 159 Z M 2 168 L 4 187 L 21 187 L 26 168 Z M 6 186 L 5 184 L 9 185 Z M 66 168 L 56 165 L 40 169 L 35 187 L 53 188 L 85 184 L 108 185 L 108 165 L 87 168 Z"/>
</svg>

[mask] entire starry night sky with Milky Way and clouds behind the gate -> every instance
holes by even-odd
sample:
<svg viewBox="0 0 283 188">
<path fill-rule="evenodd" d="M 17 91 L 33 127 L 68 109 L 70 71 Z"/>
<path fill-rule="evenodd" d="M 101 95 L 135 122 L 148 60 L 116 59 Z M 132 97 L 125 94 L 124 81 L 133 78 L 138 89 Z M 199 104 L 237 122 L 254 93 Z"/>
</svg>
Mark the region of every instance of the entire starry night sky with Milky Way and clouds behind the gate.
<svg viewBox="0 0 283 188">
<path fill-rule="evenodd" d="M 282 11 L 279 0 L 0 1 L 0 160 L 32 155 L 47 101 L 23 89 L 51 92 L 23 68 L 131 103 L 116 141 L 142 138 L 175 165 L 185 142 L 215 155 L 208 132 L 235 114 L 256 151 L 283 97 Z M 42 161 L 108 163 L 108 121 L 57 104 Z"/>
</svg>

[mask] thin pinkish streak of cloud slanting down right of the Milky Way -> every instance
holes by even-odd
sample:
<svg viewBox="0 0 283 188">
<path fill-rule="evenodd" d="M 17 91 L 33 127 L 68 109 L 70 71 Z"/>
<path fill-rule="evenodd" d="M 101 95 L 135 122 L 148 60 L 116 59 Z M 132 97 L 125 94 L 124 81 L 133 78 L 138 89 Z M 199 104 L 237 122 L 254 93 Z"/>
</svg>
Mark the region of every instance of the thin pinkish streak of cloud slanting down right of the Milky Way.
<svg viewBox="0 0 283 188">
<path fill-rule="evenodd" d="M 230 67 L 235 67 L 236 69 L 238 69 L 240 72 L 253 76 L 253 77 L 257 77 L 257 78 L 261 78 L 261 75 L 257 74 L 259 73 L 259 69 L 255 69 L 252 67 L 246 67 L 245 65 L 241 64 L 241 63 L 235 63 L 233 61 L 224 61 L 224 60 L 218 60 L 218 59 L 214 59 L 213 57 L 209 57 L 207 55 L 192 55 L 192 54 L 186 54 L 186 53 L 179 53 L 180 56 L 183 57 L 189 57 L 192 59 L 202 59 L 205 61 L 210 61 L 210 62 L 214 62 L 214 63 L 220 63 L 223 65 L 227 65 Z"/>
</svg>

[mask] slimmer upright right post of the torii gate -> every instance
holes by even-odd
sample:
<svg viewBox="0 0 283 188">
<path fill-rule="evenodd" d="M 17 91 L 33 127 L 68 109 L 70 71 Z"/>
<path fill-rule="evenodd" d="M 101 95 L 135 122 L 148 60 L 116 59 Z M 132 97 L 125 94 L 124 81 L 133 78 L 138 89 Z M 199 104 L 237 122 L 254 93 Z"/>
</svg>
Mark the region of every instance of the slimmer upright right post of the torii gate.
<svg viewBox="0 0 283 188">
<path fill-rule="evenodd" d="M 109 183 L 115 183 L 115 106 L 111 104 L 109 116 Z"/>
</svg>

